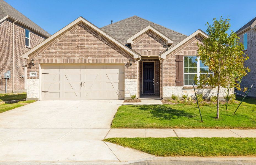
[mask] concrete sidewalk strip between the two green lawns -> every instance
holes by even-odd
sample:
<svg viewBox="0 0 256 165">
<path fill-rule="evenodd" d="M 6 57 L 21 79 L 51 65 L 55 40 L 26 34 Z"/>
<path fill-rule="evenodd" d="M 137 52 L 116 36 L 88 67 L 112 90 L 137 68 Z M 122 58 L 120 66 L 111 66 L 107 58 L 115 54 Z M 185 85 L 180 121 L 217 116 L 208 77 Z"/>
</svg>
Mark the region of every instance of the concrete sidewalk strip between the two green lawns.
<svg viewBox="0 0 256 165">
<path fill-rule="evenodd" d="M 201 138 L 256 138 L 256 130 L 235 129 L 111 129 L 106 138 L 166 138 L 166 137 L 201 137 Z"/>
</svg>

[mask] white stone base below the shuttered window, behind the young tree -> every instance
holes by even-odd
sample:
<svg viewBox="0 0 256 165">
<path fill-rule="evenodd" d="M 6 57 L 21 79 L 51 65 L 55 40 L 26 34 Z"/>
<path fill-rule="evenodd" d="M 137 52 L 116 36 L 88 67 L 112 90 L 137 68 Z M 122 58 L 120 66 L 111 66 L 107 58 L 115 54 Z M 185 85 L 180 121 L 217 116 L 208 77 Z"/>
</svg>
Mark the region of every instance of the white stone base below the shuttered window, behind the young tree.
<svg viewBox="0 0 256 165">
<path fill-rule="evenodd" d="M 211 96 L 217 96 L 217 88 L 200 88 L 195 89 L 196 94 L 203 94 L 204 98 L 210 98 Z M 163 99 L 170 99 L 171 95 L 178 95 L 182 97 L 182 95 L 188 95 L 188 97 L 195 98 L 195 92 L 192 88 L 184 88 L 184 87 L 163 87 Z M 234 94 L 234 89 L 230 89 L 229 94 Z M 227 88 L 220 88 L 220 100 L 225 100 L 224 97 L 227 95 Z"/>
</svg>

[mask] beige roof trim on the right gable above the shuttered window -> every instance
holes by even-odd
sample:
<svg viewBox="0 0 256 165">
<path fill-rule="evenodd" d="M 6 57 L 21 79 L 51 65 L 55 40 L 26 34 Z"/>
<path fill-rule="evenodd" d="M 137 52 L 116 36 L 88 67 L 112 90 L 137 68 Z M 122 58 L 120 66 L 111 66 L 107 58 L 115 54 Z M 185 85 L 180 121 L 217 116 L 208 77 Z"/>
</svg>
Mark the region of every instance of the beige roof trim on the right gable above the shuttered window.
<svg viewBox="0 0 256 165">
<path fill-rule="evenodd" d="M 192 39 L 193 37 L 195 37 L 196 35 L 200 34 L 201 36 L 203 36 L 204 38 L 208 38 L 209 36 L 202 31 L 201 29 L 198 29 L 197 31 L 195 31 L 193 34 L 191 34 L 190 36 L 188 36 L 187 38 L 185 38 L 184 40 L 182 40 L 180 43 L 178 43 L 177 45 L 173 46 L 171 49 L 167 50 L 165 53 L 161 54 L 161 59 L 166 59 L 166 56 L 170 53 L 172 53 L 174 50 L 176 50 L 177 48 L 179 48 L 180 46 L 182 46 L 184 43 L 188 42 L 190 39 Z"/>
</svg>

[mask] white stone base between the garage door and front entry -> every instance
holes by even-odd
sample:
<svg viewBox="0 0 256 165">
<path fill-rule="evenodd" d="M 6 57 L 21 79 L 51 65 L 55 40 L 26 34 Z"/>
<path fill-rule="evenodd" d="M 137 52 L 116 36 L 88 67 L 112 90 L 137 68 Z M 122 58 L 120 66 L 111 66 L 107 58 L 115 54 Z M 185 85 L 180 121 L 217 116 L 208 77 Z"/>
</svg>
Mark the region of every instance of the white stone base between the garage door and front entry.
<svg viewBox="0 0 256 165">
<path fill-rule="evenodd" d="M 125 100 L 137 93 L 137 79 L 125 79 Z"/>
</svg>

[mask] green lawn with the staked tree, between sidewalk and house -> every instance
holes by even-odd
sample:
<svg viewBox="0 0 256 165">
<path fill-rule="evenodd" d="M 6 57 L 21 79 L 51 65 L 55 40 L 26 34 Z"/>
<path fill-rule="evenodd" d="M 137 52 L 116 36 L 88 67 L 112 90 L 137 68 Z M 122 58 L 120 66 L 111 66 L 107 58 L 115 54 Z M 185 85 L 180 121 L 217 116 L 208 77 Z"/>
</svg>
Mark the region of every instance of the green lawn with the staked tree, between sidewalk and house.
<svg viewBox="0 0 256 165">
<path fill-rule="evenodd" d="M 239 100 L 239 99 L 238 99 Z M 201 106 L 203 122 L 196 103 L 192 105 L 123 105 L 111 128 L 256 128 L 256 99 L 246 98 L 233 115 L 238 103 L 220 105 L 220 119 L 215 119 L 216 105 Z"/>
</svg>

